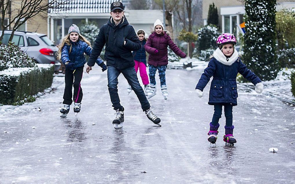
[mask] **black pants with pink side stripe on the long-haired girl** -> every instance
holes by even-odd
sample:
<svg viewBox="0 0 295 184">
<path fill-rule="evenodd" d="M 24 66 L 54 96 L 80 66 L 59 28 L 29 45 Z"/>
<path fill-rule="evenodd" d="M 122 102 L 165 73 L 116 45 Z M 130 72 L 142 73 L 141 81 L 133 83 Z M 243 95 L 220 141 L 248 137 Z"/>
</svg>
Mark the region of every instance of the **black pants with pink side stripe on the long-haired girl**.
<svg viewBox="0 0 295 184">
<path fill-rule="evenodd" d="M 71 105 L 72 102 L 81 103 L 83 92 L 81 88 L 81 79 L 83 67 L 76 70 L 65 69 L 65 92 L 63 93 L 63 104 Z M 74 80 L 75 79 L 75 80 Z M 74 86 L 74 95 L 72 100 L 72 88 Z"/>
</svg>

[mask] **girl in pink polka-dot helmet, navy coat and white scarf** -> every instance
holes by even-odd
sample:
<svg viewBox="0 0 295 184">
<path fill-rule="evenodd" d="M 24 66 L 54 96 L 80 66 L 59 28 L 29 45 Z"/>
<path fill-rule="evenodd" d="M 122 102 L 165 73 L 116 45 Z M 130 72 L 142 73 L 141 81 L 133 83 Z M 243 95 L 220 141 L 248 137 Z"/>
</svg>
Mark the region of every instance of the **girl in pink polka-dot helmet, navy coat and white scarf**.
<svg viewBox="0 0 295 184">
<path fill-rule="evenodd" d="M 243 77 L 251 81 L 255 85 L 255 91 L 261 93 L 263 84 L 251 70 L 247 69 L 238 57 L 235 49 L 236 38 L 230 33 L 219 35 L 216 44 L 218 48 L 213 53 L 213 58 L 210 60 L 208 67 L 204 70 L 201 78 L 196 86 L 198 96 L 203 96 L 203 89 L 213 76 L 210 91 L 209 105 L 214 105 L 214 114 L 212 122 L 210 122 L 210 130 L 208 132 L 208 141 L 215 143 L 217 140 L 219 119 L 222 114 L 222 106 L 224 106 L 225 135 L 223 140 L 226 145 L 236 143 L 233 134 L 234 125 L 232 125 L 232 107 L 237 105 L 237 74 L 242 74 Z"/>
</svg>

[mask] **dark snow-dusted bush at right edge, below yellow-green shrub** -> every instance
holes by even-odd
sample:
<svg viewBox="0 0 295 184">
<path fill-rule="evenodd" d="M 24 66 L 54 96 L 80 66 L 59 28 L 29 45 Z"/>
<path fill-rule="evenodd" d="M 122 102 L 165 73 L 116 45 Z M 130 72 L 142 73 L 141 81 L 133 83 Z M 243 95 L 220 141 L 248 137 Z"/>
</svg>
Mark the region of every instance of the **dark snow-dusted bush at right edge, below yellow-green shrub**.
<svg viewBox="0 0 295 184">
<path fill-rule="evenodd" d="M 281 67 L 295 67 L 295 48 L 278 50 L 278 62 Z"/>
</svg>

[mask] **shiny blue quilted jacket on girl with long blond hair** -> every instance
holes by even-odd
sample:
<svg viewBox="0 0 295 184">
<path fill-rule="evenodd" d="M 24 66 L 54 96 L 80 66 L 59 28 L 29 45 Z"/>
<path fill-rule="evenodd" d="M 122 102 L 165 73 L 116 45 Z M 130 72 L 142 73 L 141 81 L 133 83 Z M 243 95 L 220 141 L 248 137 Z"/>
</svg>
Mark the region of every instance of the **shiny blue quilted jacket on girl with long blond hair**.
<svg viewBox="0 0 295 184">
<path fill-rule="evenodd" d="M 69 54 L 71 45 L 72 45 L 72 50 L 71 50 L 71 53 Z M 65 64 L 66 62 L 75 63 L 74 68 L 79 68 L 84 66 L 84 64 L 86 63 L 86 58 L 84 53 L 90 56 L 92 51 L 91 47 L 88 44 L 86 44 L 86 42 L 83 42 L 80 39 L 78 39 L 77 42 L 71 41 L 71 45 L 65 44 L 65 46 L 63 46 L 63 49 L 61 52 L 61 61 L 63 62 L 63 64 Z M 98 59 L 96 60 L 96 63 L 99 65 L 102 62 L 104 61 L 100 57 L 98 57 Z"/>
</svg>

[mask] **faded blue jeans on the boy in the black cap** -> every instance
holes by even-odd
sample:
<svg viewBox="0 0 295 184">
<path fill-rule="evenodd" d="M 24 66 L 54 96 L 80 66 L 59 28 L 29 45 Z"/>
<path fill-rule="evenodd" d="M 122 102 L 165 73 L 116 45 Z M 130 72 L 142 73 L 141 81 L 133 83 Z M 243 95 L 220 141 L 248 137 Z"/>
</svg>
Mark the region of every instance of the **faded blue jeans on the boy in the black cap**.
<svg viewBox="0 0 295 184">
<path fill-rule="evenodd" d="M 140 86 L 137 74 L 135 72 L 134 67 L 130 67 L 127 69 L 119 70 L 113 66 L 108 66 L 108 88 L 111 97 L 112 107 L 114 110 L 122 109 L 123 106 L 120 104 L 120 99 L 118 95 L 118 77 L 122 73 L 127 79 L 127 82 L 130 84 L 131 89 L 135 92 L 143 111 L 148 110 L 150 108 L 150 103 L 148 102 L 145 93 L 143 92 L 142 87 Z"/>
</svg>

